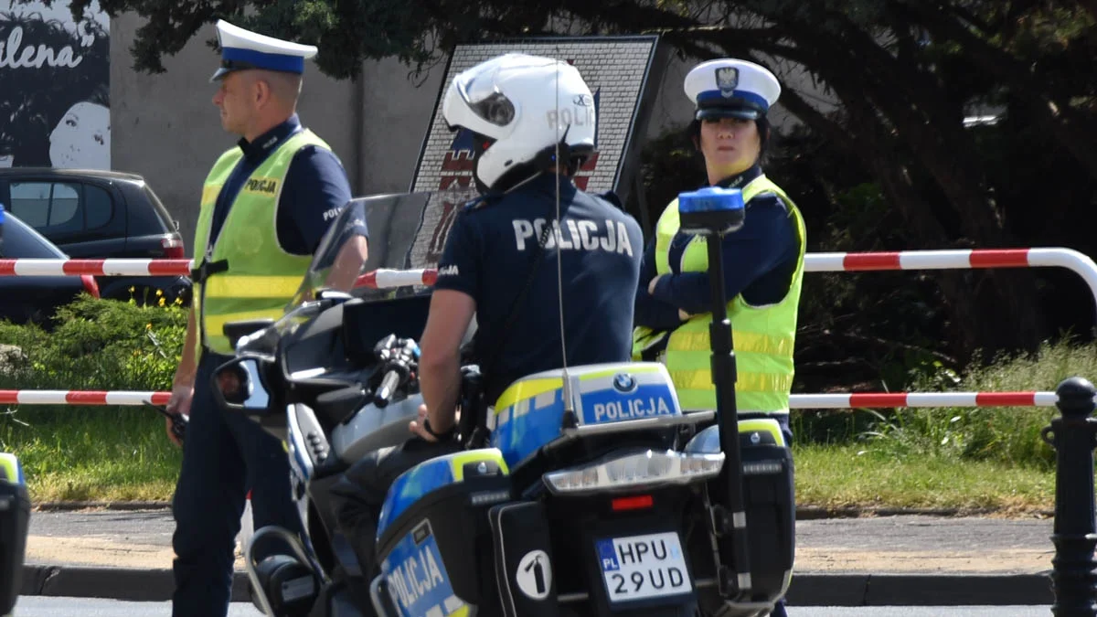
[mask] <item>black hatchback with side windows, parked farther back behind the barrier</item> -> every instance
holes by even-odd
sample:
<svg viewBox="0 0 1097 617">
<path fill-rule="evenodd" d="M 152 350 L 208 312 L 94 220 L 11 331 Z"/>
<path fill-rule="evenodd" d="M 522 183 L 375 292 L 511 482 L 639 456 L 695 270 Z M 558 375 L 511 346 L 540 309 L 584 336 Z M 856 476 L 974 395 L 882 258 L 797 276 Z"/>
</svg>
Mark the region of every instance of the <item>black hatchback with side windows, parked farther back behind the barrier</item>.
<svg viewBox="0 0 1097 617">
<path fill-rule="evenodd" d="M 75 259 L 183 259 L 179 223 L 136 173 L 94 169 L 0 169 L 0 203 Z M 186 277 L 100 277 L 103 298 L 190 302 Z M 132 293 L 129 290 L 134 289 Z"/>
</svg>

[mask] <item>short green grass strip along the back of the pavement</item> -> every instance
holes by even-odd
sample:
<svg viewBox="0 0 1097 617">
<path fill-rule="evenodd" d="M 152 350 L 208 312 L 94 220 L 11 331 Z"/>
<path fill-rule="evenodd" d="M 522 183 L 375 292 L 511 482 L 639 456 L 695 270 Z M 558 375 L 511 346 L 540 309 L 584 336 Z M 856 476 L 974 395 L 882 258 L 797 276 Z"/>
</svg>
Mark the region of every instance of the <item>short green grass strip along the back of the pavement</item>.
<svg viewBox="0 0 1097 617">
<path fill-rule="evenodd" d="M 97 413 L 117 412 L 104 408 Z M 25 464 L 32 500 L 169 501 L 180 451 L 168 445 L 159 417 L 138 418 L 129 411 L 122 416 L 117 422 L 104 415 L 81 425 L 43 427 L 25 434 L 26 438 L 15 444 L 15 451 Z M 84 428 L 100 438 L 88 437 Z M 798 504 L 1002 514 L 1047 512 L 1054 506 L 1055 481 L 1050 470 L 994 461 L 957 464 L 942 458 L 884 459 L 859 451 L 856 446 L 798 447 Z"/>
</svg>

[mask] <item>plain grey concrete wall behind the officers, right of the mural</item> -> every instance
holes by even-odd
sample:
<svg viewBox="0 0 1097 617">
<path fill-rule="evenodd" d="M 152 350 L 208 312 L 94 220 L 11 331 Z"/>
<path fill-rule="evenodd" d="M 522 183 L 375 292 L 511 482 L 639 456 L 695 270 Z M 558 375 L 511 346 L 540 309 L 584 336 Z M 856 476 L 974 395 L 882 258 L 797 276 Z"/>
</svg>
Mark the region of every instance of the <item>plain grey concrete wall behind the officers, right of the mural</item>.
<svg viewBox="0 0 1097 617">
<path fill-rule="evenodd" d="M 143 20 L 126 14 L 111 22 L 111 161 L 116 170 L 143 175 L 179 221 L 193 255 L 202 180 L 214 159 L 237 137 L 220 127 L 210 76 L 219 57 L 206 45 L 216 37 L 206 25 L 176 56 L 167 72 L 133 70 L 129 47 Z M 693 63 L 668 55 L 657 86 L 647 136 L 689 121 L 692 105 L 682 80 Z M 431 113 L 442 87 L 444 63 L 422 75 L 394 58 L 370 61 L 362 79 L 336 81 L 307 66 L 298 104 L 302 122 L 342 159 L 355 195 L 410 189 Z M 801 77 L 801 79 L 803 79 Z M 776 126 L 788 114 L 773 110 Z"/>
</svg>

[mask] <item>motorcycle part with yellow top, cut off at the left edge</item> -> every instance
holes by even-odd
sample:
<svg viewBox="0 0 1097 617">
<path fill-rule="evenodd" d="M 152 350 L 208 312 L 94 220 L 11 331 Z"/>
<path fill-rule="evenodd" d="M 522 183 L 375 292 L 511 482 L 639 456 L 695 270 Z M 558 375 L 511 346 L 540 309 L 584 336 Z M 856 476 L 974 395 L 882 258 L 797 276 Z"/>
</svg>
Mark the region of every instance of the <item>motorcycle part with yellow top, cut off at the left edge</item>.
<svg viewBox="0 0 1097 617">
<path fill-rule="evenodd" d="M 31 500 L 19 459 L 0 452 L 0 615 L 11 615 L 19 599 L 30 516 Z"/>
</svg>

